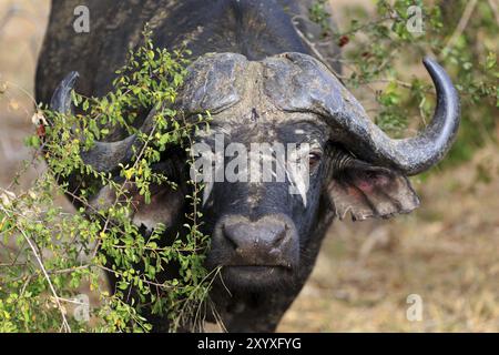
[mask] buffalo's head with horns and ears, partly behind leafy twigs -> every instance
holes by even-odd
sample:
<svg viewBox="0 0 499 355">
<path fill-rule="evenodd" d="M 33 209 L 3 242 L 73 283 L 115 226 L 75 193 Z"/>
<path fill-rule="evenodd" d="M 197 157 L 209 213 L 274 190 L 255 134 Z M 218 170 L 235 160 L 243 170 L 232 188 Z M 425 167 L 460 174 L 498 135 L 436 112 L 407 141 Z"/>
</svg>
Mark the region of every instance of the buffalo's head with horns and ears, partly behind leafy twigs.
<svg viewBox="0 0 499 355">
<path fill-rule="evenodd" d="M 335 215 L 389 217 L 418 206 L 407 176 L 438 163 L 459 125 L 459 100 L 448 75 L 435 61 L 424 63 L 437 91 L 435 115 L 416 136 L 401 140 L 376 126 L 338 79 L 307 54 L 248 61 L 216 53 L 191 65 L 176 104 L 187 118 L 206 110 L 213 116 L 211 130 L 194 143 L 211 153 L 213 176 L 224 176 L 206 182 L 203 210 L 212 236 L 207 264 L 224 266 L 230 288 L 293 282 L 313 264 L 317 235 Z M 70 109 L 75 77 L 58 88 L 53 109 Z M 150 126 L 146 119 L 142 130 Z M 131 158 L 134 144 L 134 135 L 98 142 L 83 160 L 99 171 L 113 171 Z M 293 144 L 307 149 L 289 151 Z M 279 153 L 284 160 L 276 159 Z M 296 159 L 305 159 L 306 169 L 287 164 Z M 271 161 L 269 180 L 249 176 L 255 161 Z M 165 223 L 181 201 L 173 192 L 161 192 L 134 219 Z"/>
</svg>

